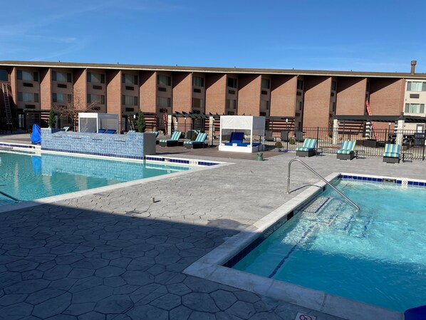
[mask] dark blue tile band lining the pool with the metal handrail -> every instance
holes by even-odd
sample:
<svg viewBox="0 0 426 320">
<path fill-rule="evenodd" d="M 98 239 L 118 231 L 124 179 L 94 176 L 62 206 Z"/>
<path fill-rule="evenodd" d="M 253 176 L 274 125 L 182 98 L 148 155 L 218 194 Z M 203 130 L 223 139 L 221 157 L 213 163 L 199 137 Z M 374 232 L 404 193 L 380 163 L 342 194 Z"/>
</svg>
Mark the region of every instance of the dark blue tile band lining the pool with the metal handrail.
<svg viewBox="0 0 426 320">
<path fill-rule="evenodd" d="M 393 178 L 393 177 L 380 177 L 380 176 L 371 176 L 371 175 L 353 175 L 348 173 L 342 173 L 341 175 L 338 175 L 338 177 L 330 180 L 330 183 L 336 182 L 338 179 L 343 180 L 356 180 L 356 181 L 368 181 L 368 182 L 385 182 L 385 183 L 394 183 L 396 185 L 401 186 L 418 186 L 418 187 L 426 187 L 426 181 L 425 180 L 408 180 L 403 178 Z M 267 228 L 262 234 L 259 235 L 256 239 L 254 239 L 253 242 L 248 244 L 246 247 L 241 249 L 237 254 L 235 254 L 231 259 L 228 259 L 227 262 L 222 264 L 223 267 L 232 268 L 235 264 L 237 264 L 241 259 L 246 257 L 249 252 L 251 252 L 254 248 L 259 246 L 261 242 L 264 242 L 264 240 L 269 237 L 272 233 L 276 231 L 276 229 L 279 229 L 283 224 L 285 224 L 287 221 L 291 220 L 292 217 L 298 214 L 298 212 L 301 212 L 304 208 L 311 205 L 311 203 L 316 199 L 319 193 L 326 190 L 327 185 L 322 188 L 322 190 L 318 190 L 315 195 L 309 197 L 306 199 L 305 202 L 303 202 L 301 205 L 298 205 L 293 210 L 291 210 L 287 215 L 284 217 L 281 217 L 281 219 L 277 220 L 274 224 L 271 225 L 271 227 Z"/>
</svg>

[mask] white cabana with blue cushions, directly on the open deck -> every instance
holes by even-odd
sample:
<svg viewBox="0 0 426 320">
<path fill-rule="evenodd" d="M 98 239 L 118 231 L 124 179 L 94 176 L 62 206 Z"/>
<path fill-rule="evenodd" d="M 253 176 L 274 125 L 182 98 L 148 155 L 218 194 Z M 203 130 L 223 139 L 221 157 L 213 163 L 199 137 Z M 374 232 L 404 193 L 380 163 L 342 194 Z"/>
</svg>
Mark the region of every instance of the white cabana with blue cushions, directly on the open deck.
<svg viewBox="0 0 426 320">
<path fill-rule="evenodd" d="M 265 117 L 221 115 L 219 151 L 255 153 L 264 148 Z M 259 139 L 254 141 L 254 137 Z"/>
</svg>

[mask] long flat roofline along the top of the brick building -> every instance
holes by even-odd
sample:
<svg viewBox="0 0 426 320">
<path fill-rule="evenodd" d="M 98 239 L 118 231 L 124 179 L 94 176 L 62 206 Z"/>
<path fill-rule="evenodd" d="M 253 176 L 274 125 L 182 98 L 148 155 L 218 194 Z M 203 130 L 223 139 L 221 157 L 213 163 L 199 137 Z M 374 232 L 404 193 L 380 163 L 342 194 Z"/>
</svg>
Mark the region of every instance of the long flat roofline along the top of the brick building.
<svg viewBox="0 0 426 320">
<path fill-rule="evenodd" d="M 147 66 L 133 64 L 110 63 L 76 63 L 76 62 L 50 62 L 50 61 L 0 61 L 0 66 L 33 67 L 33 68 L 89 68 L 110 70 L 133 71 L 179 71 L 196 73 L 252 73 L 282 76 L 346 76 L 358 78 L 407 78 L 426 79 L 426 73 L 390 73 L 368 71 L 322 71 L 322 70 L 294 70 L 294 69 L 269 69 L 269 68 L 219 68 L 196 66 Z"/>
</svg>

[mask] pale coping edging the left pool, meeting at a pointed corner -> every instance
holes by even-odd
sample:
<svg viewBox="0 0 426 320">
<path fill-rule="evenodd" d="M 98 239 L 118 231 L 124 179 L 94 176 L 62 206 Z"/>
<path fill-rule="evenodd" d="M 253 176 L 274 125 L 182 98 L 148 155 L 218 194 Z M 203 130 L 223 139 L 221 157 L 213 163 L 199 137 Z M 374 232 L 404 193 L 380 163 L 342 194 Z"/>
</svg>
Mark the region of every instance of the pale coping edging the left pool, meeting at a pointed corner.
<svg viewBox="0 0 426 320">
<path fill-rule="evenodd" d="M 14 150 L 21 150 L 22 151 L 23 149 L 17 147 Z M 11 150 L 11 151 L 13 152 L 14 150 Z M 40 155 L 41 153 L 48 153 L 48 154 L 54 154 L 54 155 L 68 155 L 70 157 L 98 158 L 98 159 L 103 159 L 103 160 L 113 160 L 113 161 L 121 161 L 121 162 L 138 162 L 138 163 L 150 163 L 150 164 L 158 164 L 158 165 L 184 166 L 184 167 L 191 167 L 192 169 L 180 171 L 180 172 L 172 172 L 172 173 L 168 173 L 166 175 L 158 175 L 156 177 L 147 177 L 147 178 L 139 179 L 139 180 L 131 180 L 131 181 L 127 181 L 127 182 L 120 182 L 120 183 L 116 183 L 115 185 L 106 185 L 104 187 L 97 187 L 97 188 L 93 188 L 93 189 L 81 190 L 81 191 L 76 191 L 76 192 L 68 192 L 68 193 L 64 193 L 63 195 L 53 195 L 51 197 L 43 197 L 43 198 L 39 198 L 39 199 L 36 199 L 36 200 L 28 200 L 28 201 L 23 201 L 23 202 L 18 202 L 18 203 L 12 203 L 10 205 L 1 205 L 0 206 L 0 213 L 10 212 L 10 211 L 15 211 L 15 210 L 22 210 L 22 209 L 26 209 L 26 208 L 29 208 L 29 207 L 36 207 L 38 205 L 46 205 L 46 204 L 52 203 L 52 202 L 58 202 L 58 201 L 62 201 L 62 200 L 73 199 L 73 198 L 76 198 L 76 197 L 83 197 L 85 195 L 93 195 L 93 194 L 100 193 L 100 192 L 108 192 L 108 191 L 117 190 L 117 189 L 120 189 L 120 188 L 123 188 L 123 187 L 131 187 L 133 185 L 141 185 L 141 184 L 145 184 L 147 182 L 152 182 L 152 181 L 157 181 L 157 180 L 162 180 L 162 179 L 167 179 L 167 178 L 172 178 L 172 177 L 178 177 L 180 175 L 187 175 L 187 174 L 193 173 L 193 172 L 210 170 L 210 169 L 214 169 L 214 168 L 217 168 L 217 167 L 224 167 L 226 165 L 234 165 L 233 162 L 207 161 L 207 160 L 184 159 L 184 158 L 171 158 L 171 157 L 164 157 L 162 155 L 159 155 L 159 156 L 149 155 L 148 156 L 150 158 L 159 158 L 159 159 L 162 158 L 163 159 L 163 160 L 155 161 L 155 160 L 140 160 L 140 159 L 131 159 L 131 158 L 115 158 L 115 157 L 101 156 L 101 155 L 84 155 L 84 154 L 76 154 L 76 153 L 62 153 L 62 152 L 58 152 L 58 151 L 47 151 L 47 150 L 36 150 L 36 149 L 28 150 L 27 148 L 24 149 L 24 151 L 30 151 L 30 152 L 35 153 L 36 155 Z M 189 164 L 182 163 L 182 162 L 172 162 L 170 160 L 188 160 Z M 197 165 L 198 162 L 202 162 L 202 163 L 206 163 L 206 162 L 213 163 L 214 162 L 214 163 L 216 163 L 216 165 Z"/>
</svg>

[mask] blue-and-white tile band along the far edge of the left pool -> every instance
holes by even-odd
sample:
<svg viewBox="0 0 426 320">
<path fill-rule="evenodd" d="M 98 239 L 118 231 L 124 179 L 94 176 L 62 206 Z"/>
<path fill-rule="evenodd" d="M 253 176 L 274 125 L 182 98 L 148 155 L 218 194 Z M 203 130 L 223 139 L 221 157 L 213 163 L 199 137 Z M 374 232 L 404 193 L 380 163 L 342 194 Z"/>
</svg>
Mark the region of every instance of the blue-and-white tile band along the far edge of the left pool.
<svg viewBox="0 0 426 320">
<path fill-rule="evenodd" d="M 125 155 L 99 155 L 95 153 L 79 153 L 79 152 L 65 152 L 61 150 L 45 150 L 43 148 L 40 148 L 40 145 L 20 145 L 16 143 L 0 143 L 0 150 L 1 147 L 3 148 L 12 148 L 13 150 L 19 150 L 19 151 L 28 151 L 28 152 L 37 152 L 40 150 L 43 151 L 53 151 L 54 153 L 72 153 L 73 155 L 95 155 L 95 156 L 102 156 L 106 158 L 123 158 L 123 159 L 134 159 L 134 160 L 148 160 L 152 162 L 160 162 L 163 165 L 170 164 L 170 165 L 200 165 L 200 166 L 212 166 L 212 165 L 219 165 L 223 162 L 212 162 L 212 161 L 205 161 L 205 160 L 192 160 L 192 159 L 178 159 L 178 158 L 170 158 L 170 157 L 163 157 L 159 155 L 145 155 L 144 157 L 135 158 L 133 156 L 125 156 Z"/>
</svg>

